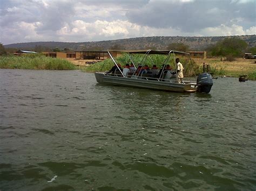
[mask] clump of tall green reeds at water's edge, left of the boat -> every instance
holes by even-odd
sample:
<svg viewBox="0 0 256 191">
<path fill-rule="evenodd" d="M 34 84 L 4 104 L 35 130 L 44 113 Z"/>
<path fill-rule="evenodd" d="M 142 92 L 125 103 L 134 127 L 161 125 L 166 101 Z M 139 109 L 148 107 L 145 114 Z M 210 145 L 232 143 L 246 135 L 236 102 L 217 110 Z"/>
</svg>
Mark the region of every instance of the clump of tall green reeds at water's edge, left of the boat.
<svg viewBox="0 0 256 191">
<path fill-rule="evenodd" d="M 31 54 L 26 56 L 0 56 L 0 68 L 71 70 L 76 69 L 76 66 L 68 60 Z"/>
</svg>

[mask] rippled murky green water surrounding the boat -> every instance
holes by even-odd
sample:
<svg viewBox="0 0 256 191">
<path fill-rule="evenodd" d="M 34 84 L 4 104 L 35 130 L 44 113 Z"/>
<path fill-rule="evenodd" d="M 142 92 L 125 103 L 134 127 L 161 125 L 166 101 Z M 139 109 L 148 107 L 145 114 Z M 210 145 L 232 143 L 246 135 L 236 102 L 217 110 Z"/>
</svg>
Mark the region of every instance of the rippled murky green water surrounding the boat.
<svg viewBox="0 0 256 191">
<path fill-rule="evenodd" d="M 0 69 L 1 190 L 255 190 L 256 82 L 211 94 Z"/>
</svg>

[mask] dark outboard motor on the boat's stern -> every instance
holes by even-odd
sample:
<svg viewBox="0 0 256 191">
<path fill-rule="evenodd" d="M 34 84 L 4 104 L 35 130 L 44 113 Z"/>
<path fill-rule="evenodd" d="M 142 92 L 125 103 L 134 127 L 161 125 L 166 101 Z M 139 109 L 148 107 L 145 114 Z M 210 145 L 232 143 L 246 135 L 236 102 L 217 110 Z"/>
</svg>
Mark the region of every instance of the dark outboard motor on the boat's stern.
<svg viewBox="0 0 256 191">
<path fill-rule="evenodd" d="M 209 93 L 213 85 L 212 75 L 209 73 L 199 74 L 197 77 L 197 91 Z"/>
</svg>

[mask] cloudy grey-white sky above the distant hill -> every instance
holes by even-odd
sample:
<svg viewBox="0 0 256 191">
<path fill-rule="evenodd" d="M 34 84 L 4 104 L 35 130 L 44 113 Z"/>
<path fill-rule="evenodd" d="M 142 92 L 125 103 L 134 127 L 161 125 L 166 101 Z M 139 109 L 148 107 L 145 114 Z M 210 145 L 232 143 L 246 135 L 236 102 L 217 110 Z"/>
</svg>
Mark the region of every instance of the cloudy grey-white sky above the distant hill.
<svg viewBox="0 0 256 191">
<path fill-rule="evenodd" d="M 0 0 L 0 43 L 256 34 L 256 0 Z"/>
</svg>

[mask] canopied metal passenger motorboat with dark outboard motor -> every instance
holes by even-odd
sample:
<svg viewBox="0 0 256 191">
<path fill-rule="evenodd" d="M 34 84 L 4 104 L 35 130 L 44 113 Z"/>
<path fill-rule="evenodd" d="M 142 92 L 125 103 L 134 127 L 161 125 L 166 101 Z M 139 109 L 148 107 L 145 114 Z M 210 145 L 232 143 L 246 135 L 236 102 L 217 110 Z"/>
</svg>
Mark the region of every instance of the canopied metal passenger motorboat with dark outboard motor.
<svg viewBox="0 0 256 191">
<path fill-rule="evenodd" d="M 117 61 L 113 58 L 111 52 L 122 52 L 128 53 L 131 64 L 134 66 L 134 70 L 130 70 L 128 73 L 123 73 L 123 71 L 118 66 Z M 112 84 L 116 86 L 129 86 L 137 88 L 147 88 L 154 90 L 165 90 L 165 91 L 176 91 L 176 92 L 195 92 L 199 91 L 201 93 L 209 93 L 213 85 L 212 76 L 209 73 L 199 74 L 197 81 L 186 81 L 179 80 L 177 72 L 177 65 L 174 70 L 165 69 L 167 63 L 171 57 L 175 59 L 176 54 L 187 55 L 190 58 L 189 53 L 179 52 L 179 51 L 160 51 L 160 50 L 142 50 L 142 51 L 108 51 L 110 58 L 112 59 L 116 70 L 110 73 L 96 72 L 95 77 L 98 83 Z M 132 59 L 132 54 L 144 54 L 142 61 L 136 66 Z M 153 71 L 143 69 L 145 66 L 145 61 L 150 58 L 152 54 L 164 54 L 166 59 L 163 63 L 162 69 L 158 70 L 158 73 L 155 74 Z"/>
</svg>

